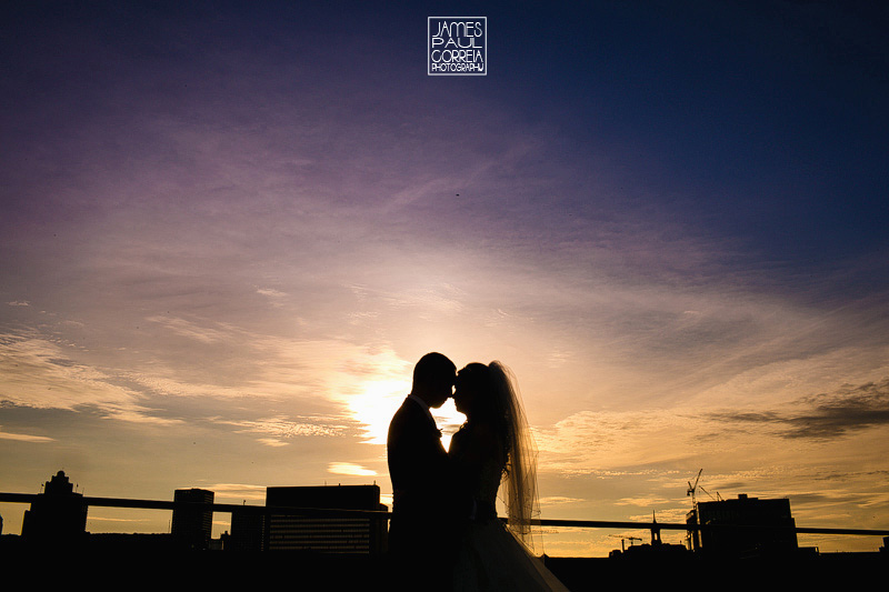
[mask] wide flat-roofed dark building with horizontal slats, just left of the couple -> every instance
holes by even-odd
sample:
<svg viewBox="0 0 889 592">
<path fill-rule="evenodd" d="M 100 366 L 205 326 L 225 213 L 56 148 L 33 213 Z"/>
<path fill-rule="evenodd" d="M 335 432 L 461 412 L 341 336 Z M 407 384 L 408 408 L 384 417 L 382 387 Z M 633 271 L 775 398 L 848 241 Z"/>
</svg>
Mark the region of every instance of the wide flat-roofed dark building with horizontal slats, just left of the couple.
<svg viewBox="0 0 889 592">
<path fill-rule="evenodd" d="M 267 488 L 267 506 L 324 510 L 386 511 L 378 485 Z M 384 515 L 319 515 L 270 513 L 264 548 L 270 551 L 310 551 L 379 555 L 386 551 Z"/>
</svg>

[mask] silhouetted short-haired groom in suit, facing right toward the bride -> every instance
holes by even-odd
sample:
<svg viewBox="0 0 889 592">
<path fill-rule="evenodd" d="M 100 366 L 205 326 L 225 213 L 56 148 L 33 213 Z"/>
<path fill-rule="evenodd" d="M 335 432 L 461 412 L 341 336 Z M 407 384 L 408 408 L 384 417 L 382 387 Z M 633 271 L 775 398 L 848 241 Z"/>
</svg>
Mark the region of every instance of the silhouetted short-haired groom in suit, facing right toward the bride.
<svg viewBox="0 0 889 592">
<path fill-rule="evenodd" d="M 432 352 L 413 368 L 411 392 L 389 424 L 387 451 L 392 480 L 389 554 L 403 589 L 450 588 L 457 552 L 453 480 L 441 432 L 429 411 L 453 393 L 457 367 Z"/>
</svg>

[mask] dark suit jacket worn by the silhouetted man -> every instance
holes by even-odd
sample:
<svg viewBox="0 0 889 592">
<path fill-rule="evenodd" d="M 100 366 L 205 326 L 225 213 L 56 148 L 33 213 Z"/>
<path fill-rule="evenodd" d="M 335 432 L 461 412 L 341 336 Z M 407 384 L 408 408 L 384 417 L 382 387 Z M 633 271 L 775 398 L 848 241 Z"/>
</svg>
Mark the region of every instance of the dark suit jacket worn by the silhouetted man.
<svg viewBox="0 0 889 592">
<path fill-rule="evenodd" d="M 417 552 L 449 544 L 453 508 L 450 461 L 436 422 L 417 401 L 408 398 L 392 417 L 387 440 L 392 480 L 389 548 Z"/>
</svg>

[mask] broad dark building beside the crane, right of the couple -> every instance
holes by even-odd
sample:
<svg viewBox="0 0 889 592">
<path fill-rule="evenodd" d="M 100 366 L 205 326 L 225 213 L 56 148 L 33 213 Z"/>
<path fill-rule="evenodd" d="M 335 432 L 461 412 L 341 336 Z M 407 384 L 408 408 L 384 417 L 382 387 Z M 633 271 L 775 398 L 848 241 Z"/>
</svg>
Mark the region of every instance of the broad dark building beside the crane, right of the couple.
<svg viewBox="0 0 889 592">
<path fill-rule="evenodd" d="M 739 494 L 737 500 L 698 502 L 686 523 L 737 526 L 689 531 L 695 551 L 708 555 L 775 555 L 799 549 L 790 500 L 760 500 Z"/>
</svg>

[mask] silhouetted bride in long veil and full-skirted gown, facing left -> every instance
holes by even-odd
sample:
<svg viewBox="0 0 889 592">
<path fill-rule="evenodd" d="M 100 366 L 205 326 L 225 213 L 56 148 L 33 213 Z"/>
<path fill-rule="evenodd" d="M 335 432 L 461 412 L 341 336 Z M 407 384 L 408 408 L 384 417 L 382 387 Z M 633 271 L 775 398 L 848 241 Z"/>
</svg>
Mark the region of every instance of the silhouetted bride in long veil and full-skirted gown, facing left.
<svg viewBox="0 0 889 592">
<path fill-rule="evenodd" d="M 471 363 L 457 373 L 453 401 L 467 417 L 448 455 L 476 515 L 462 532 L 453 571 L 456 590 L 567 590 L 533 556 L 537 448 L 511 372 L 500 362 Z M 502 485 L 508 522 L 497 518 Z"/>
</svg>

